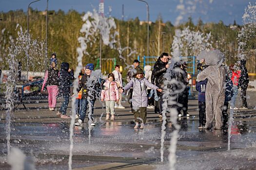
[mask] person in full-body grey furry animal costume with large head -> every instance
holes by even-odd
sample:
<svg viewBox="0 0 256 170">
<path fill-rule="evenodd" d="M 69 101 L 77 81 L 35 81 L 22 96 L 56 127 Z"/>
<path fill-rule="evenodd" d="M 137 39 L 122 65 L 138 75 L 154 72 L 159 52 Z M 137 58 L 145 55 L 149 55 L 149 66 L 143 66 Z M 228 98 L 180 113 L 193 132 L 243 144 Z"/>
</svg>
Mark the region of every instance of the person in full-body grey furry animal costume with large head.
<svg viewBox="0 0 256 170">
<path fill-rule="evenodd" d="M 211 129 L 213 120 L 215 119 L 214 129 L 222 127 L 222 107 L 225 100 L 225 79 L 226 71 L 222 62 L 224 54 L 219 50 L 205 50 L 198 56 L 197 60 L 204 59 L 208 65 L 203 71 L 197 75 L 197 82 L 208 79 L 205 91 L 206 102 L 206 123 L 205 128 Z"/>
</svg>

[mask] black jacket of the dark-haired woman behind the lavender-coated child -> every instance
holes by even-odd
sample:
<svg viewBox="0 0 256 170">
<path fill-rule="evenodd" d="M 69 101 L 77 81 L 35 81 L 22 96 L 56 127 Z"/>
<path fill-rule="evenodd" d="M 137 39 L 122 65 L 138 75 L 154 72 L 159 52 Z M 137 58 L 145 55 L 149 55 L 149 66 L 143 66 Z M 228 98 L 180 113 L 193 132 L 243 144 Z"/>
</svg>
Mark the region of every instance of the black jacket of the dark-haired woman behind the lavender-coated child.
<svg viewBox="0 0 256 170">
<path fill-rule="evenodd" d="M 164 63 L 162 62 L 162 60 L 160 59 L 160 57 L 158 57 L 158 61 L 156 62 L 156 64 L 154 65 L 154 75 L 155 75 L 155 83 L 159 88 L 163 88 L 164 86 L 164 81 L 166 80 L 166 78 L 164 78 L 164 74 L 166 73 L 166 65 L 168 64 L 168 62 Z M 158 95 L 160 95 L 158 93 Z"/>
</svg>

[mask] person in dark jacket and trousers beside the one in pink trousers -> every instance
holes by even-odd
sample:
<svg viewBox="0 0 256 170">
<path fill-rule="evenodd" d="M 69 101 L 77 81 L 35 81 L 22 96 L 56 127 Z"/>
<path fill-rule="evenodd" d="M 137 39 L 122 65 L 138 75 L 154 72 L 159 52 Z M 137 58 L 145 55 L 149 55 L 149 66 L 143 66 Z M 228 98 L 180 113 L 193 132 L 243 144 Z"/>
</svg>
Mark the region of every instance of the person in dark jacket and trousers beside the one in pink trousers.
<svg viewBox="0 0 256 170">
<path fill-rule="evenodd" d="M 66 112 L 70 97 L 70 80 L 74 79 L 74 70 L 69 68 L 68 63 L 61 63 L 59 70 L 59 94 L 64 98 L 64 102 L 62 102 L 57 115 L 63 119 L 69 118 L 69 116 L 66 115 Z"/>
</svg>

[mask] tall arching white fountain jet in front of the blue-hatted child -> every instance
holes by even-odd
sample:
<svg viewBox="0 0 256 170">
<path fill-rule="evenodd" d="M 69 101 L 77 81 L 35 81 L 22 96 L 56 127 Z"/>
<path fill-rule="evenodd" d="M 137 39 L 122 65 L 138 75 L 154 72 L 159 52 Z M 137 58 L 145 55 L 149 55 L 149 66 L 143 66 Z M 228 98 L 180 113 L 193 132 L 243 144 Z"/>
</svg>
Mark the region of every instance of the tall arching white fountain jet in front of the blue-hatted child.
<svg viewBox="0 0 256 170">
<path fill-rule="evenodd" d="M 115 43 L 114 39 L 111 39 L 111 37 L 114 37 L 114 35 L 110 36 L 110 31 L 112 29 L 116 29 L 116 23 L 114 21 L 114 18 L 109 17 L 102 17 L 98 15 L 97 11 L 94 10 L 93 13 L 87 12 L 83 17 L 82 20 L 84 24 L 82 25 L 82 28 L 80 29 L 80 32 L 84 34 L 83 36 L 78 38 L 78 41 L 80 43 L 80 47 L 77 48 L 78 52 L 78 66 L 75 71 L 75 81 L 74 81 L 74 88 L 73 93 L 74 97 L 72 98 L 72 117 L 71 117 L 71 123 L 70 123 L 70 150 L 69 150 L 69 170 L 72 170 L 72 150 L 73 150 L 73 135 L 74 135 L 74 124 L 75 124 L 75 100 L 78 97 L 78 84 L 79 84 L 79 72 L 82 69 L 82 57 L 83 54 L 88 54 L 87 50 L 87 43 L 89 42 L 96 42 L 96 37 L 94 36 L 95 33 L 100 33 L 102 36 L 103 43 L 105 45 L 110 46 L 113 48 L 113 44 Z M 99 71 L 100 72 L 100 71 Z M 95 73 L 98 73 L 95 71 Z M 100 73 L 101 75 L 101 73 Z M 93 77 L 93 76 L 91 76 Z M 97 77 L 97 76 L 96 76 Z M 90 108 L 89 104 L 89 113 L 88 117 L 90 119 L 90 116 L 92 114 L 92 108 Z M 92 123 L 92 120 L 89 120 L 88 124 L 90 125 Z M 91 127 L 89 127 L 89 138 L 91 136 Z"/>
</svg>

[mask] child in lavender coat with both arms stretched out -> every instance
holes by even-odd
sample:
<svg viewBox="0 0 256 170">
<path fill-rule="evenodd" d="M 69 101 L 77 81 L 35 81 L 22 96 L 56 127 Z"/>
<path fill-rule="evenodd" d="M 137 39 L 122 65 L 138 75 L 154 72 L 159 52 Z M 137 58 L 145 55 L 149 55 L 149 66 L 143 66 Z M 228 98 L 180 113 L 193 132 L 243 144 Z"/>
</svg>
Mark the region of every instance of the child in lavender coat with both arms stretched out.
<svg viewBox="0 0 256 170">
<path fill-rule="evenodd" d="M 140 67 L 135 68 L 134 73 L 135 74 L 133 78 L 130 80 L 130 82 L 119 91 L 123 92 L 133 87 L 132 104 L 136 122 L 136 126 L 134 128 L 138 129 L 138 123 L 140 122 L 140 129 L 144 129 L 144 122 L 146 122 L 147 119 L 146 109 L 148 106 L 148 96 L 146 87 L 148 86 L 159 92 L 162 92 L 162 89 L 158 88 L 158 86 L 153 85 L 152 83 L 149 83 L 149 81 L 144 77 L 144 72 Z"/>
</svg>

